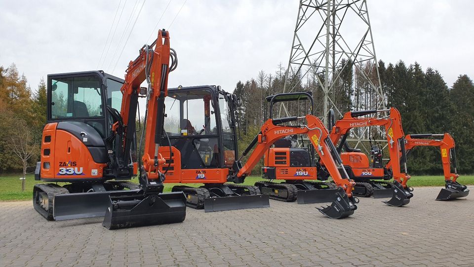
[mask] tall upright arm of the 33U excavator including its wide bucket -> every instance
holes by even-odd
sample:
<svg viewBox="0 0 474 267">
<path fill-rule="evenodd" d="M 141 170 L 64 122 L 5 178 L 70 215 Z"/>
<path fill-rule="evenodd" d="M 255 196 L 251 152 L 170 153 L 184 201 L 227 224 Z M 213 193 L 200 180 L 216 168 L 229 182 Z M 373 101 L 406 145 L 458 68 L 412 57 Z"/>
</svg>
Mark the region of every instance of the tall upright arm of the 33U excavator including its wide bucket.
<svg viewBox="0 0 474 267">
<path fill-rule="evenodd" d="M 152 48 L 155 46 L 154 48 Z M 172 51 L 172 52 L 171 52 Z M 170 64 L 171 57 L 171 64 Z M 130 155 L 131 142 L 134 141 L 135 118 L 138 97 L 147 99 L 145 114 L 145 148 L 140 166 L 140 189 L 110 194 L 110 206 L 106 211 L 104 226 L 109 229 L 183 222 L 186 217 L 186 196 L 182 192 L 162 193 L 164 174 L 159 167 L 165 159 L 158 153 L 163 134 L 164 98 L 168 94 L 168 73 L 177 66 L 176 53 L 169 46 L 169 34 L 158 32 L 152 45 L 144 45 L 139 56 L 130 61 L 121 88 L 121 120 L 112 130 L 120 136 L 118 147 L 123 155 Z M 147 81 L 148 88 L 140 85 Z M 140 144 L 143 134 L 140 137 Z M 117 137 L 116 137 L 117 140 Z M 117 144 L 116 144 L 117 147 Z M 117 152 L 116 152 L 117 153 Z"/>
</svg>

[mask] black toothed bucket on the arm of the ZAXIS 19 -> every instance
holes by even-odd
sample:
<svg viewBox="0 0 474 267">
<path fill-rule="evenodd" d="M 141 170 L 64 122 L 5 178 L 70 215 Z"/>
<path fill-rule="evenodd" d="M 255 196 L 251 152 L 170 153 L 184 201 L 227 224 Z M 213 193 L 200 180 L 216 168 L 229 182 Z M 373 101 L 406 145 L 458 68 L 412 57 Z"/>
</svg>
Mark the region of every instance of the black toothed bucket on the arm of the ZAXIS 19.
<svg viewBox="0 0 474 267">
<path fill-rule="evenodd" d="M 331 219 L 342 219 L 354 214 L 357 209 L 353 200 L 350 200 L 346 192 L 341 187 L 336 189 L 337 192 L 333 194 L 333 201 L 331 206 L 316 208 L 320 213 Z"/>
</svg>

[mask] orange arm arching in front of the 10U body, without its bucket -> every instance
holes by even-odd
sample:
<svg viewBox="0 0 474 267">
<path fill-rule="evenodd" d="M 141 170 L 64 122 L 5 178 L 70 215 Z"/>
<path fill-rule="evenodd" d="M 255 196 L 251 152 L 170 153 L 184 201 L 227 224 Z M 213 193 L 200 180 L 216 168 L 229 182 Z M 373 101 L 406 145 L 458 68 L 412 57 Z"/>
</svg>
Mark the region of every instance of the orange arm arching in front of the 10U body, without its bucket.
<svg viewBox="0 0 474 267">
<path fill-rule="evenodd" d="M 375 114 L 379 112 L 389 112 L 390 115 L 382 118 L 360 118 L 359 116 Z M 331 129 L 331 140 L 334 145 L 337 145 L 341 140 L 340 145 L 346 141 L 346 137 L 349 131 L 356 127 L 367 127 L 367 126 L 383 126 L 385 127 L 385 133 L 389 142 L 388 148 L 390 152 L 390 158 L 393 160 L 393 176 L 396 181 L 401 183 L 403 187 L 406 187 L 406 182 L 410 178 L 407 175 L 406 160 L 405 160 L 405 142 L 404 133 L 401 127 L 401 116 L 400 112 L 396 108 L 389 110 L 362 110 L 362 111 L 349 111 L 344 114 L 344 117 L 334 124 Z M 400 153 L 404 162 L 404 173 L 400 171 Z"/>
</svg>

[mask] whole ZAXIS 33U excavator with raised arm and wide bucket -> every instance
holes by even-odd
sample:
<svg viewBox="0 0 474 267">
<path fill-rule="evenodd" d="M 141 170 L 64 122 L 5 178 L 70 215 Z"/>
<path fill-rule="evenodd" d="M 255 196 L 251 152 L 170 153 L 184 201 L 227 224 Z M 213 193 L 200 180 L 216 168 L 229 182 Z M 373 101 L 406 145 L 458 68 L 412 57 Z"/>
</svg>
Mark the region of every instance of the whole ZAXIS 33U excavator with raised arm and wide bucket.
<svg viewBox="0 0 474 267">
<path fill-rule="evenodd" d="M 185 220 L 185 195 L 162 193 L 159 171 L 165 162 L 158 148 L 168 73 L 176 66 L 168 32 L 160 30 L 130 61 L 125 81 L 102 71 L 48 75 L 47 124 L 35 179 L 50 183 L 36 184 L 33 192 L 33 206 L 44 218 L 105 216 L 109 229 Z M 144 81 L 148 88 L 140 88 Z M 141 164 L 135 162 L 139 97 L 147 99 Z M 137 171 L 140 186 L 123 181 Z"/>
</svg>

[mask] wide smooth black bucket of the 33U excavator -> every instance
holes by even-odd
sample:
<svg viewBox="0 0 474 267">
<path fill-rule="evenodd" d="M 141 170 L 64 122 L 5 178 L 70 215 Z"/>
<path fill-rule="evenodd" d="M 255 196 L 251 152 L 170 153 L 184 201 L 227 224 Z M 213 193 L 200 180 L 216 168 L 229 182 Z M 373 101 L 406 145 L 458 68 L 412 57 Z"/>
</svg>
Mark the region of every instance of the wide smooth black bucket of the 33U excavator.
<svg viewBox="0 0 474 267">
<path fill-rule="evenodd" d="M 135 190 L 134 190 L 135 191 Z M 181 223 L 186 218 L 183 192 L 150 194 L 111 193 L 102 225 L 120 229 L 165 223 Z"/>
</svg>

